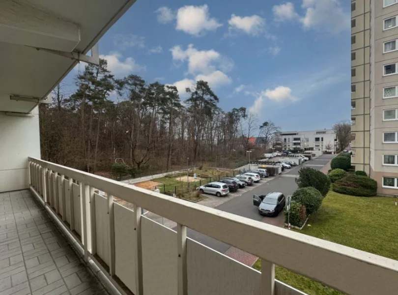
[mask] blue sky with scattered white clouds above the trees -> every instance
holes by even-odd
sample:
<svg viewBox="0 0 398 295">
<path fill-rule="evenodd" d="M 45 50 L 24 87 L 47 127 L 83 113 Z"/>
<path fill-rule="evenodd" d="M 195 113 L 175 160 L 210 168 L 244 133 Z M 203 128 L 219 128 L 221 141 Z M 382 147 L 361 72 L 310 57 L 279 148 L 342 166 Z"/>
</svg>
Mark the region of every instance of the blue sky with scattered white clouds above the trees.
<svg viewBox="0 0 398 295">
<path fill-rule="evenodd" d="M 246 107 L 284 131 L 331 128 L 350 118 L 349 5 L 137 0 L 100 40 L 100 57 L 116 78 L 175 85 L 182 100 L 205 80 L 224 111 Z"/>
</svg>

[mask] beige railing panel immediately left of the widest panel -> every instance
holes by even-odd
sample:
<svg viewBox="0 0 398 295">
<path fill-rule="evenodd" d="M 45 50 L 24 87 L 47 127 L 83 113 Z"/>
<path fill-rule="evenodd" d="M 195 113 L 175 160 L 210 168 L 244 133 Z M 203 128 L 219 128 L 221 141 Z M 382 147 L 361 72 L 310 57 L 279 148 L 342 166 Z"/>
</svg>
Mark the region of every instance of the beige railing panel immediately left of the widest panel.
<svg viewBox="0 0 398 295">
<path fill-rule="evenodd" d="M 177 234 L 144 216 L 141 231 L 143 293 L 176 295 Z"/>
</svg>

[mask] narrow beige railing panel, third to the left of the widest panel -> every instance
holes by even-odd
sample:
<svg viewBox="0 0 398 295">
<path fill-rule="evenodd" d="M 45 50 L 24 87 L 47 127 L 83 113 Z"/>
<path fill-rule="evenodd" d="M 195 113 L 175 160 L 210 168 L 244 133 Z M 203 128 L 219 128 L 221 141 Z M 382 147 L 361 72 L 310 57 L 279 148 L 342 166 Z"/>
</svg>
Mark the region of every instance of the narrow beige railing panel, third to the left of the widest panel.
<svg viewBox="0 0 398 295">
<path fill-rule="evenodd" d="M 98 194 L 95 197 L 95 224 L 97 255 L 109 266 L 110 241 L 108 222 L 108 200 Z M 128 227 L 128 224 L 124 224 Z"/>
</svg>

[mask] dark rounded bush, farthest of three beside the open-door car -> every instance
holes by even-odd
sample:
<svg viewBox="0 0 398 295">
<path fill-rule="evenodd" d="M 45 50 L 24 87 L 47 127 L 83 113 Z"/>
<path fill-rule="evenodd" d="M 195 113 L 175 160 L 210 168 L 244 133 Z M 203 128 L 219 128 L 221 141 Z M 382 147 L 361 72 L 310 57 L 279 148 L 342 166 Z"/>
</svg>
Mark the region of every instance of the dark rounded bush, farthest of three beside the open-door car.
<svg viewBox="0 0 398 295">
<path fill-rule="evenodd" d="M 314 187 L 321 193 L 322 196 L 326 196 L 330 187 L 329 177 L 319 170 L 315 170 L 310 167 L 301 168 L 298 174 L 299 177 L 296 178 L 296 183 L 299 188 Z"/>
</svg>

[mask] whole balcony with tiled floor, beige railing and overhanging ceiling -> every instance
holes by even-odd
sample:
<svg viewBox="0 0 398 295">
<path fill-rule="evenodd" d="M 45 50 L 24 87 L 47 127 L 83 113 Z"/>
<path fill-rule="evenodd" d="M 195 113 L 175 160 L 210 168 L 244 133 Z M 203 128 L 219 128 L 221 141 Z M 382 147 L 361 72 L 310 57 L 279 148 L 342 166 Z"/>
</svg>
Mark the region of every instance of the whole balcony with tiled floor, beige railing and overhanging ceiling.
<svg viewBox="0 0 398 295">
<path fill-rule="evenodd" d="M 391 259 L 40 159 L 37 105 L 77 59 L 98 62 L 95 44 L 133 2 L 0 2 L 0 294 L 303 294 L 276 265 L 346 294 L 395 294 Z M 261 272 L 191 230 L 259 257 Z"/>
</svg>

